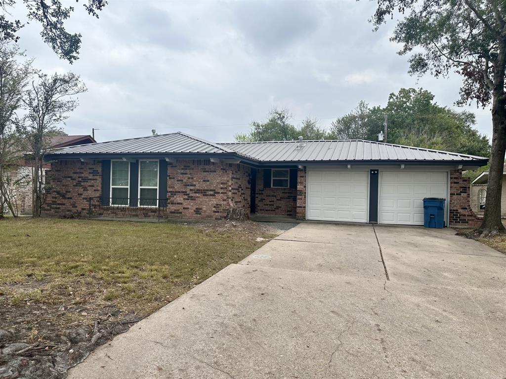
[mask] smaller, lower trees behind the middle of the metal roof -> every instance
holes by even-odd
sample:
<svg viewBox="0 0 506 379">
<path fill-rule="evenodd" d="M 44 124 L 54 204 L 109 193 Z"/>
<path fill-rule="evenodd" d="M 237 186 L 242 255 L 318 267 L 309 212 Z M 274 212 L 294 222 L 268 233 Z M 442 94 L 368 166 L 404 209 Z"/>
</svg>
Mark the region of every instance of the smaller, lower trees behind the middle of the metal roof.
<svg viewBox="0 0 506 379">
<path fill-rule="evenodd" d="M 327 132 L 317 126 L 316 119 L 306 118 L 300 128 L 290 123 L 292 115 L 287 109 L 274 108 L 269 119 L 262 123 L 253 121 L 249 133 L 237 133 L 234 137 L 238 142 L 255 141 L 292 141 L 299 136 L 304 139 L 325 139 Z"/>
</svg>

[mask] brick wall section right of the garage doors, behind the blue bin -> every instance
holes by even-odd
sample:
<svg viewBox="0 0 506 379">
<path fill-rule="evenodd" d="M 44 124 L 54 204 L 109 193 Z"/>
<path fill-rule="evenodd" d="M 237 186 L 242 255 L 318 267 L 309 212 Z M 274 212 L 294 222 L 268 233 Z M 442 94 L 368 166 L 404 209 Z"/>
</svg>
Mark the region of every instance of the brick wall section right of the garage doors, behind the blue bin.
<svg viewBox="0 0 506 379">
<path fill-rule="evenodd" d="M 462 170 L 450 171 L 449 226 L 479 227 L 481 219 L 471 208 L 470 178 L 462 177 Z"/>
</svg>

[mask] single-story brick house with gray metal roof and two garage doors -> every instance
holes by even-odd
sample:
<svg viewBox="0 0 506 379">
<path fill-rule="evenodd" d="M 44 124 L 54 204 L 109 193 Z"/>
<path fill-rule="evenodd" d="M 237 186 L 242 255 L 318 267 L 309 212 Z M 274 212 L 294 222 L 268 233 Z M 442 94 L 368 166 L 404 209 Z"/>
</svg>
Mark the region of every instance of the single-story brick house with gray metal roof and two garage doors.
<svg viewBox="0 0 506 379">
<path fill-rule="evenodd" d="M 469 178 L 488 159 L 364 140 L 215 144 L 184 133 L 58 149 L 44 213 L 221 219 L 230 208 L 301 220 L 477 226 Z"/>
</svg>

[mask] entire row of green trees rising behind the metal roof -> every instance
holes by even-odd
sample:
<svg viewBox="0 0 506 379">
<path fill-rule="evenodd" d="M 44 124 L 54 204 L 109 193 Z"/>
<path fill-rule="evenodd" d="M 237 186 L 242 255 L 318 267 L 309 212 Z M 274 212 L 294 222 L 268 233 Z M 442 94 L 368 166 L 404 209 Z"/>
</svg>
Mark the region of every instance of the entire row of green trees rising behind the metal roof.
<svg viewBox="0 0 506 379">
<path fill-rule="evenodd" d="M 434 102 L 434 94 L 419 88 L 391 93 L 385 107 L 369 107 L 361 101 L 350 113 L 332 122 L 327 131 L 317 120 L 306 119 L 300 127 L 290 123 L 286 109 L 274 109 L 266 122 L 253 122 L 249 133 L 238 133 L 238 142 L 311 139 L 366 139 L 377 141 L 388 116 L 388 143 L 488 157 L 488 138 L 475 128 L 475 115 L 456 112 Z"/>
</svg>

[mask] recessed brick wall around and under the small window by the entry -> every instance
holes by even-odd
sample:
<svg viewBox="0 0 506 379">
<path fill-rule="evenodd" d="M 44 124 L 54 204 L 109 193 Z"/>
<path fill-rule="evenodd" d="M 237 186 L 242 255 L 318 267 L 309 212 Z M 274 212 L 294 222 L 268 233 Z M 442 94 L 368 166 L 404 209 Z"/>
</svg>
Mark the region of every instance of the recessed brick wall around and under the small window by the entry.
<svg viewBox="0 0 506 379">
<path fill-rule="evenodd" d="M 264 170 L 257 170 L 256 212 L 296 217 L 297 189 L 264 188 Z"/>
</svg>

